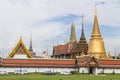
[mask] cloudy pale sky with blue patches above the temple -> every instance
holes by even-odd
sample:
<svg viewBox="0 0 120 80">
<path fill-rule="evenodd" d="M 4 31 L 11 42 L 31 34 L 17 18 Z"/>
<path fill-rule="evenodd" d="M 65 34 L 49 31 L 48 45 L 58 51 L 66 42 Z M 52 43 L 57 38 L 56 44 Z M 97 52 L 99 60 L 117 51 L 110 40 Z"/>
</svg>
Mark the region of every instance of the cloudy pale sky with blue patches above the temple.
<svg viewBox="0 0 120 80">
<path fill-rule="evenodd" d="M 106 52 L 120 53 L 119 0 L 0 0 L 0 53 L 6 57 L 20 36 L 29 48 L 32 34 L 34 52 L 44 56 L 42 52 L 48 48 L 51 55 L 53 45 L 69 41 L 72 22 L 79 41 L 82 14 L 89 42 L 95 5 Z"/>
</svg>

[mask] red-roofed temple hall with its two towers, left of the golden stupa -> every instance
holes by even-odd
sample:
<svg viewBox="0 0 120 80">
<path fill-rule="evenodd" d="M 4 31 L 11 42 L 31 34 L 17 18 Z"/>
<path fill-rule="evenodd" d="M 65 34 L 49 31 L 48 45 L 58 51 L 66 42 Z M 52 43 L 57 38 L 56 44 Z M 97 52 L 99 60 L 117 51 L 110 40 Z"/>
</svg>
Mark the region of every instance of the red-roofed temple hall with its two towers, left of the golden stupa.
<svg viewBox="0 0 120 80">
<path fill-rule="evenodd" d="M 82 17 L 82 32 L 79 42 L 76 40 L 75 25 L 71 25 L 71 34 L 69 42 L 64 45 L 53 46 L 52 58 L 75 59 L 76 56 L 87 55 L 88 44 L 84 34 L 84 25 Z"/>
</svg>

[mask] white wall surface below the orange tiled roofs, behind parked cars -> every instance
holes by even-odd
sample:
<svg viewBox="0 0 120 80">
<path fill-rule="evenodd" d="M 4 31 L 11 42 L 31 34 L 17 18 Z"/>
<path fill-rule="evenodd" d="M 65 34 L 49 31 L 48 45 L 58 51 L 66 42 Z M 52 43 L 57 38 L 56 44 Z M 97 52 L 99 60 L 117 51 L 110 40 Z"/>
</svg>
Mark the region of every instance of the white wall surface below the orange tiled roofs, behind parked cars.
<svg viewBox="0 0 120 80">
<path fill-rule="evenodd" d="M 14 72 L 15 70 L 27 70 L 28 72 L 44 72 L 44 71 L 54 71 L 54 72 L 62 72 L 62 71 L 77 71 L 75 68 L 40 68 L 40 67 L 0 67 L 0 71 Z M 79 73 L 88 73 L 87 67 L 80 67 Z M 103 71 L 102 68 L 97 68 L 97 72 L 101 73 Z M 115 73 L 120 73 L 120 69 L 114 69 Z M 113 69 L 104 69 L 104 73 L 113 73 Z"/>
</svg>

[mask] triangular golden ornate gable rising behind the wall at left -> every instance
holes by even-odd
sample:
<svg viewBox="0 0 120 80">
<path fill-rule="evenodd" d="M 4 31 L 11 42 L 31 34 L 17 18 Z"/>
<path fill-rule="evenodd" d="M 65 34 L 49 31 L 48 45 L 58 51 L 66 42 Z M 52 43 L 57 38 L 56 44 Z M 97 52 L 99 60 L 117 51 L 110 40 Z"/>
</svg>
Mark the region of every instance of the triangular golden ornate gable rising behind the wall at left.
<svg viewBox="0 0 120 80">
<path fill-rule="evenodd" d="M 28 58 L 32 58 L 33 55 L 30 53 L 29 50 L 25 47 L 22 38 L 20 38 L 19 42 L 17 43 L 16 47 L 12 50 L 12 52 L 8 55 L 8 58 L 13 58 L 15 54 L 19 55 L 27 55 Z"/>
</svg>

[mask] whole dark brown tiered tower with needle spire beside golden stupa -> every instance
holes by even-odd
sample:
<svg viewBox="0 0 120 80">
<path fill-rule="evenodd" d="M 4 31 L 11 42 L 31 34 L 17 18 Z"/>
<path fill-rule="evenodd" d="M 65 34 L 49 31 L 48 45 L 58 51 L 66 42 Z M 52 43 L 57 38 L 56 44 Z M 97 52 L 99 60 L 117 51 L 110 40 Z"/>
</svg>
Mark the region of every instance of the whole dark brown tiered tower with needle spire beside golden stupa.
<svg viewBox="0 0 120 80">
<path fill-rule="evenodd" d="M 82 32 L 81 32 L 81 37 L 79 41 L 79 52 L 84 53 L 84 55 L 87 54 L 88 51 L 88 44 L 85 38 L 85 33 L 84 33 L 84 25 L 83 25 L 83 15 L 82 15 Z"/>
</svg>

